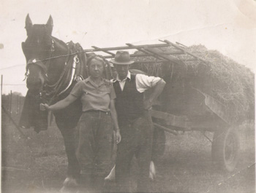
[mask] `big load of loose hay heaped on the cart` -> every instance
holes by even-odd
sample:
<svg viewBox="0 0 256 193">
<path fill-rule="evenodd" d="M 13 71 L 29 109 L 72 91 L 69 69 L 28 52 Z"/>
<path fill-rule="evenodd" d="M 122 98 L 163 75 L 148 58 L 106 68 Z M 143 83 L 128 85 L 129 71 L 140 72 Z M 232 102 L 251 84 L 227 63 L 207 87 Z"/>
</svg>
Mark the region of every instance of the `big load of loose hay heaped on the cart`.
<svg viewBox="0 0 256 193">
<path fill-rule="evenodd" d="M 173 47 L 159 49 L 177 51 Z M 160 99 L 162 111 L 192 118 L 211 114 L 204 103 L 205 96 L 209 95 L 225 108 L 230 122 L 254 119 L 255 75 L 252 71 L 217 50 L 207 50 L 203 45 L 186 47 L 186 50 L 207 62 L 187 55 L 175 55 L 180 60 L 179 64 L 157 63 L 156 58 L 147 56 L 135 60 L 154 60 L 156 63 L 131 66 L 165 79 L 167 84 Z"/>
</svg>

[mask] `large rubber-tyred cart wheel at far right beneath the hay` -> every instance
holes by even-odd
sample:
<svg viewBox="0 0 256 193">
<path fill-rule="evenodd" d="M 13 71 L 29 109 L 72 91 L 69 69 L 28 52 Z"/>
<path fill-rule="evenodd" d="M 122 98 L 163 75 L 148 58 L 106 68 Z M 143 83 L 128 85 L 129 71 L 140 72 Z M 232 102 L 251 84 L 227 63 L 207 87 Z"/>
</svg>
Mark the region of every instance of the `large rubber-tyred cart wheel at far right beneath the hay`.
<svg viewBox="0 0 256 193">
<path fill-rule="evenodd" d="M 239 137 L 236 128 L 217 130 L 211 146 L 211 159 L 218 168 L 232 172 L 238 163 Z"/>
</svg>

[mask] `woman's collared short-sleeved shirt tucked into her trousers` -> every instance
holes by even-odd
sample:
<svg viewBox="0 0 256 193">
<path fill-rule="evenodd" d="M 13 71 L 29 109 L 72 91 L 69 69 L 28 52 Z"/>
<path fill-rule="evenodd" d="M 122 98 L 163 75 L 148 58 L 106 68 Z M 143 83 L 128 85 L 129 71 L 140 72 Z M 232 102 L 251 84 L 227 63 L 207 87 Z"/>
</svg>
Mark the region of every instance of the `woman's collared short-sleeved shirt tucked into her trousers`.
<svg viewBox="0 0 256 193">
<path fill-rule="evenodd" d="M 116 98 L 112 82 L 102 79 L 102 82 L 97 85 L 91 80 L 91 76 L 75 84 L 70 95 L 80 98 L 83 111 L 110 111 L 110 100 Z"/>
</svg>

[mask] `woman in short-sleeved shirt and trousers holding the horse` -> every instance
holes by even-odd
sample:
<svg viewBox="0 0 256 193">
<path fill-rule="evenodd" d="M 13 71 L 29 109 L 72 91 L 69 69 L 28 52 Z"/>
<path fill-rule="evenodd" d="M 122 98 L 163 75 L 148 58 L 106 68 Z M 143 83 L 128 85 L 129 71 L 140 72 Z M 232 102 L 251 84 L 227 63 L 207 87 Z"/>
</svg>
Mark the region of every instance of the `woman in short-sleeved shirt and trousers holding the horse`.
<svg viewBox="0 0 256 193">
<path fill-rule="evenodd" d="M 116 98 L 113 85 L 102 75 L 105 60 L 94 55 L 88 60 L 89 78 L 78 82 L 64 100 L 52 106 L 41 104 L 42 110 L 58 111 L 80 98 L 83 114 L 78 122 L 79 141 L 76 155 L 80 163 L 80 184 L 85 189 L 102 192 L 104 178 L 110 172 L 113 127 L 116 143 L 121 141 L 118 128 Z M 112 118 L 112 121 L 111 121 Z"/>
</svg>

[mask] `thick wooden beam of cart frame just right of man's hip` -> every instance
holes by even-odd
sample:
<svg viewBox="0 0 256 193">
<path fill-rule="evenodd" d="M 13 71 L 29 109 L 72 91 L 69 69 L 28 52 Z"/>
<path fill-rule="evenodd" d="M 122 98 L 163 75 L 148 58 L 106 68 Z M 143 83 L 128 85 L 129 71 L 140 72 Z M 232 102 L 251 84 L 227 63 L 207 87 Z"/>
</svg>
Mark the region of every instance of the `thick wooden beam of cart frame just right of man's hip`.
<svg viewBox="0 0 256 193">
<path fill-rule="evenodd" d="M 157 119 L 164 119 L 166 125 L 171 125 L 174 127 L 183 127 L 190 130 L 192 127 L 192 122 L 187 118 L 187 116 L 176 116 L 173 114 L 168 114 L 162 111 L 151 110 L 151 117 Z"/>
</svg>

